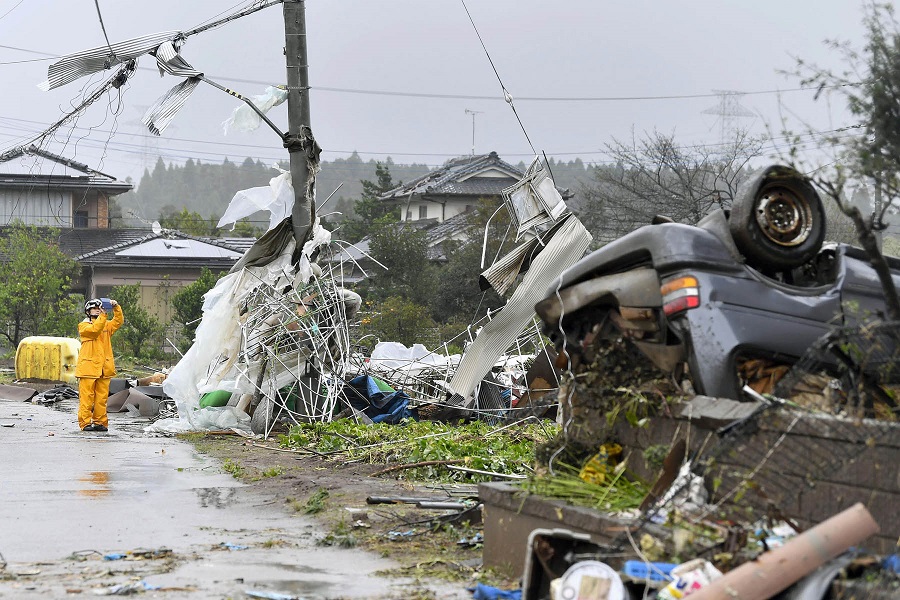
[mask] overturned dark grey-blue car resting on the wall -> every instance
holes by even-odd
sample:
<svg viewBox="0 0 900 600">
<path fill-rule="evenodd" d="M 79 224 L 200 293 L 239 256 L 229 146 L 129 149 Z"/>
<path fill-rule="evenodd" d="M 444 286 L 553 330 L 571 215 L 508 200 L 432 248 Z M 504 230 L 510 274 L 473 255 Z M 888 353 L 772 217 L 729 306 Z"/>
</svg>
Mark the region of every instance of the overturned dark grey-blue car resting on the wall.
<svg viewBox="0 0 900 600">
<path fill-rule="evenodd" d="M 730 214 L 641 227 L 563 272 L 535 309 L 573 367 L 595 340 L 624 337 L 697 393 L 740 399 L 742 361 L 793 364 L 834 327 L 883 317 L 864 251 L 824 237 L 818 194 L 771 166 Z M 887 261 L 900 287 L 900 260 Z"/>
</svg>

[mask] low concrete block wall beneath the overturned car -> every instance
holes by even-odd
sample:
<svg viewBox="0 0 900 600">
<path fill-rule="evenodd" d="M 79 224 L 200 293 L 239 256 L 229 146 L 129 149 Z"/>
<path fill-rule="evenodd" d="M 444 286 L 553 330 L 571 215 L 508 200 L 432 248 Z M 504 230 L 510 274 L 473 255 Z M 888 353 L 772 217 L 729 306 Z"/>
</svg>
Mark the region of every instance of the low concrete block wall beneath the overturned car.
<svg viewBox="0 0 900 600">
<path fill-rule="evenodd" d="M 641 429 L 620 424 L 615 437 L 631 453 L 629 468 L 654 480 L 643 450 L 685 439 L 699 460 L 710 461 L 706 486 L 719 505 L 713 514 L 744 523 L 787 518 L 808 528 L 862 502 L 881 526 L 863 546 L 896 552 L 900 424 L 770 409 L 723 437 L 715 432 L 721 423 L 694 417 L 659 417 Z"/>
</svg>

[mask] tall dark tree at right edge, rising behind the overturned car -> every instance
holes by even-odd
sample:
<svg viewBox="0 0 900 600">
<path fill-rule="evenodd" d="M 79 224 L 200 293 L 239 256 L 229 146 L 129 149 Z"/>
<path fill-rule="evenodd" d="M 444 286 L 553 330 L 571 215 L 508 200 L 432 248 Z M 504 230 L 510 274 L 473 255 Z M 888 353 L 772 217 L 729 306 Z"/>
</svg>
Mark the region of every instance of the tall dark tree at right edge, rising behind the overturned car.
<svg viewBox="0 0 900 600">
<path fill-rule="evenodd" d="M 836 94 L 847 104 L 858 123 L 844 130 L 822 136 L 804 123 L 803 134 L 789 130 L 789 160 L 801 163 L 802 137 L 824 139 L 831 156 L 821 165 L 798 165 L 802 172 L 812 173 L 810 180 L 841 208 L 856 227 L 860 245 L 869 256 L 885 293 L 888 317 L 900 320 L 900 298 L 894 287 L 887 261 L 878 247 L 877 232 L 886 228 L 886 215 L 900 198 L 900 26 L 891 5 L 868 2 L 863 9 L 866 41 L 862 48 L 849 42 L 829 41 L 828 45 L 844 60 L 840 71 L 821 68 L 798 60 L 792 74 L 801 84 Z M 859 135 L 847 137 L 848 130 Z M 807 168 L 807 166 L 809 168 Z M 848 201 L 848 184 L 871 182 L 875 202 L 869 214 L 863 214 Z"/>
</svg>

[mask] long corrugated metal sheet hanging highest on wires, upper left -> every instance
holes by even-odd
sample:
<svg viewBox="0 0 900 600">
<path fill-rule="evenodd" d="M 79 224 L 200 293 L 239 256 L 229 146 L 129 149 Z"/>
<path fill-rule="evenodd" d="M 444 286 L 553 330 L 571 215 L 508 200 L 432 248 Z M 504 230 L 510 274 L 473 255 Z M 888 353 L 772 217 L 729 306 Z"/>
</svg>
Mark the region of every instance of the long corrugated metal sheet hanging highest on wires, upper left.
<svg viewBox="0 0 900 600">
<path fill-rule="evenodd" d="M 161 43 L 173 40 L 179 35 L 177 31 L 151 33 L 124 42 L 116 42 L 111 46 L 99 46 L 66 55 L 48 67 L 47 81 L 39 84 L 38 87 L 45 91 L 52 90 L 85 75 L 105 71 L 114 65 L 126 63 L 133 58 L 142 56 L 154 50 Z M 110 57 L 110 49 L 112 49 L 114 57 Z"/>
</svg>

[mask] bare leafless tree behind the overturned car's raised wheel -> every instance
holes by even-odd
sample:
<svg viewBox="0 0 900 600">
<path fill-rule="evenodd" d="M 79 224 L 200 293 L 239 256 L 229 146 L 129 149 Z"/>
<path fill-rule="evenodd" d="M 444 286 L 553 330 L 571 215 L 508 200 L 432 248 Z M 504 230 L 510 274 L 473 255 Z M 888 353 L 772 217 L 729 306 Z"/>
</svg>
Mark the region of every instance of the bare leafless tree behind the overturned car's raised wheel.
<svg viewBox="0 0 900 600">
<path fill-rule="evenodd" d="M 730 143 L 679 146 L 674 134 L 654 132 L 606 145 L 615 166 L 600 166 L 573 208 L 597 241 L 610 241 L 664 215 L 695 224 L 713 208 L 727 208 L 748 161 L 762 141 L 735 132 Z"/>
</svg>

